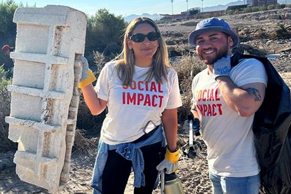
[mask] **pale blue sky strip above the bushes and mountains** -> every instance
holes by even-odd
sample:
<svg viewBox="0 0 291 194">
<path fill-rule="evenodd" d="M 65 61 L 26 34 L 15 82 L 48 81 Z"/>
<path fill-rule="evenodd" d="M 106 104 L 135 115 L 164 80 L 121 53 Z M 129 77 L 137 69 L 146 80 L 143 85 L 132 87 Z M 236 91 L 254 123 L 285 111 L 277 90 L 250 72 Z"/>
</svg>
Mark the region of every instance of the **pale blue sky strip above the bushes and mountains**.
<svg viewBox="0 0 291 194">
<path fill-rule="evenodd" d="M 203 7 L 225 5 L 237 0 L 203 0 Z M 46 5 L 63 5 L 80 10 L 86 14 L 93 15 L 97 10 L 105 8 L 116 15 L 131 15 L 142 13 L 149 14 L 172 14 L 171 0 L 15 0 L 23 5 L 44 7 Z M 188 0 L 188 9 L 202 7 L 201 0 Z M 187 8 L 186 0 L 173 0 L 174 14 L 179 14 Z"/>
</svg>

